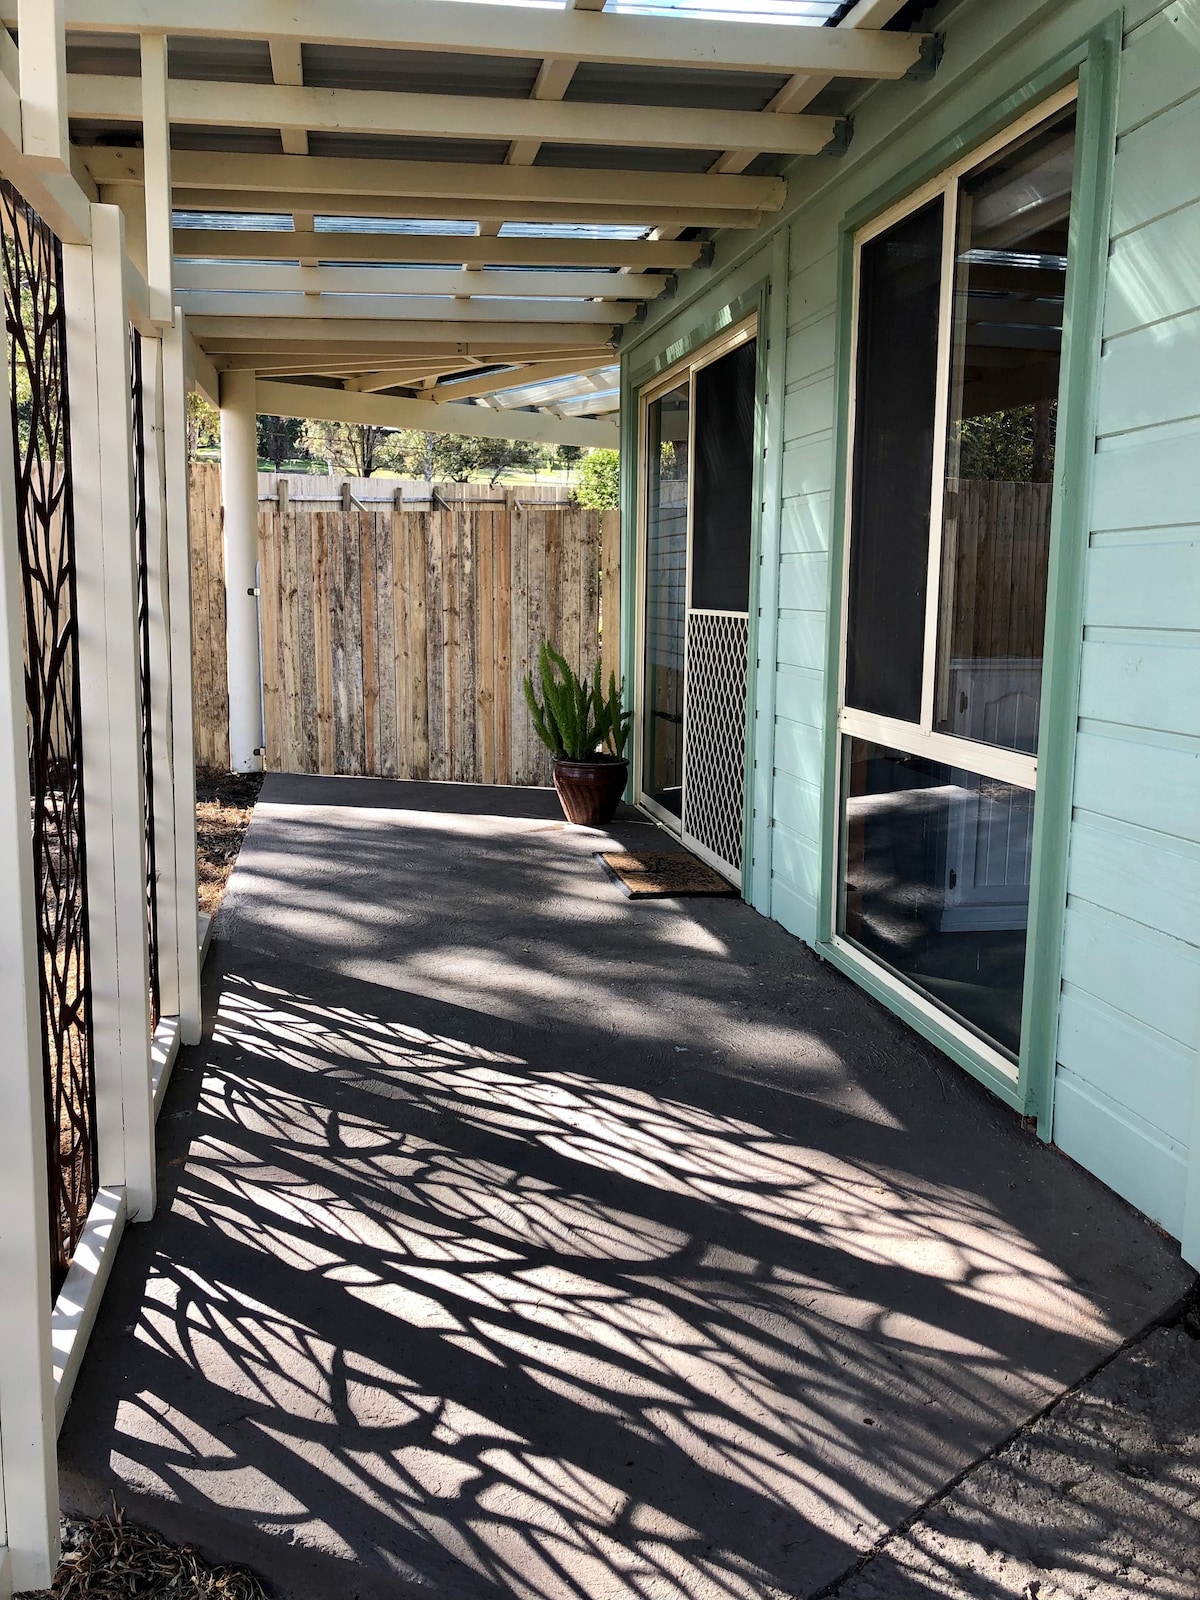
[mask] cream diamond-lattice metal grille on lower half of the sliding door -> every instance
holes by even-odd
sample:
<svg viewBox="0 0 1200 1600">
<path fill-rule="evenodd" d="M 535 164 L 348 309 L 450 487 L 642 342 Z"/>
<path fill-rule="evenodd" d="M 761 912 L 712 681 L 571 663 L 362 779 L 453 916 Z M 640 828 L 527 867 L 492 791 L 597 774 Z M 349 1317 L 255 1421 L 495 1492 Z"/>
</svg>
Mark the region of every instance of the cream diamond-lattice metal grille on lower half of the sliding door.
<svg viewBox="0 0 1200 1600">
<path fill-rule="evenodd" d="M 746 691 L 750 619 L 688 613 L 683 832 L 738 875 L 746 808 Z"/>
</svg>

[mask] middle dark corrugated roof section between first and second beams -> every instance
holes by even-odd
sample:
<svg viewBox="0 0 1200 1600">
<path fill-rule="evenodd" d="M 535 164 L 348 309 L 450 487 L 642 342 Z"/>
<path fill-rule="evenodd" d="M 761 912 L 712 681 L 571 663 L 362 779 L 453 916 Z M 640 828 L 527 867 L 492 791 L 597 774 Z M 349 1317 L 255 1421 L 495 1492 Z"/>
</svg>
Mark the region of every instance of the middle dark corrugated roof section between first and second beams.
<svg viewBox="0 0 1200 1600">
<path fill-rule="evenodd" d="M 302 45 L 304 82 L 322 90 L 405 90 L 411 94 L 501 94 L 528 99 L 539 59 L 435 54 L 360 45 Z"/>
</svg>

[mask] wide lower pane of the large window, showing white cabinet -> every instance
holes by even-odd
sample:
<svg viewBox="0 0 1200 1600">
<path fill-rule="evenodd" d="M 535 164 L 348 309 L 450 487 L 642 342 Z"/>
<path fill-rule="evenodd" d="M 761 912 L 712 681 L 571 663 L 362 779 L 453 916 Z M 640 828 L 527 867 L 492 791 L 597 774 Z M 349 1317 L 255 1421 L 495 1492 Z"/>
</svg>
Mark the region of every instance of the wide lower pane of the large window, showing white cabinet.
<svg viewBox="0 0 1200 1600">
<path fill-rule="evenodd" d="M 1016 1058 L 1034 792 L 845 741 L 840 931 Z"/>
</svg>

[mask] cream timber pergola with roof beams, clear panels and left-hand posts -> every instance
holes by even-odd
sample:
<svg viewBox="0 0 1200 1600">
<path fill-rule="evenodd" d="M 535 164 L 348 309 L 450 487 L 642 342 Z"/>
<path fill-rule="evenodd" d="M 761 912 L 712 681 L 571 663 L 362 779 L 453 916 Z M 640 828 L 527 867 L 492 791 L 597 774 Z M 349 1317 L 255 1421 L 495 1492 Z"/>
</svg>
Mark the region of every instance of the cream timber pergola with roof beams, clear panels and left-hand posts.
<svg viewBox="0 0 1200 1600">
<path fill-rule="evenodd" d="M 61 246 L 70 430 L 58 467 L 69 461 L 74 478 L 69 690 L 78 690 L 88 811 L 99 1189 L 51 1328 L 53 1062 L 38 974 L 53 952 L 37 931 L 45 883 L 29 859 L 37 794 L 14 534 L 26 499 L 6 442 L 0 1592 L 5 1573 L 18 1589 L 50 1581 L 56 1419 L 123 1219 L 154 1210 L 154 1110 L 174 1050 L 200 1027 L 187 390 L 222 411 L 237 741 L 258 694 L 256 414 L 614 445 L 624 330 L 675 291 L 680 272 L 704 267 L 714 237 L 784 206 L 789 163 L 837 160 L 864 88 L 933 70 L 936 42 L 906 26 L 920 10 L 901 0 L 3 5 L 0 178 L 26 208 L 13 226 L 43 229 L 51 256 Z M 754 19 L 739 19 L 747 11 Z M 48 398 L 64 402 L 61 389 Z M 149 934 L 147 874 L 158 918 Z"/>
</svg>

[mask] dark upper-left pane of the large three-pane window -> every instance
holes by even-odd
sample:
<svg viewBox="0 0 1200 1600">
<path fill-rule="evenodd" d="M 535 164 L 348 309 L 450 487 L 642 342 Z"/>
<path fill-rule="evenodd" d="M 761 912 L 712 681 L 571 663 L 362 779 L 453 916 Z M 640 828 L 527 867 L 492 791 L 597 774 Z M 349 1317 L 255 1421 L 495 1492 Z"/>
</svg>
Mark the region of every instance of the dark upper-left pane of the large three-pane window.
<svg viewBox="0 0 1200 1600">
<path fill-rule="evenodd" d="M 918 722 L 942 200 L 862 246 L 846 704 Z"/>
</svg>

